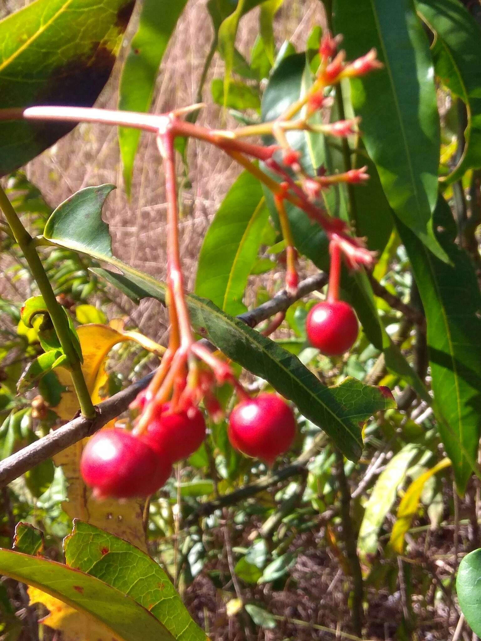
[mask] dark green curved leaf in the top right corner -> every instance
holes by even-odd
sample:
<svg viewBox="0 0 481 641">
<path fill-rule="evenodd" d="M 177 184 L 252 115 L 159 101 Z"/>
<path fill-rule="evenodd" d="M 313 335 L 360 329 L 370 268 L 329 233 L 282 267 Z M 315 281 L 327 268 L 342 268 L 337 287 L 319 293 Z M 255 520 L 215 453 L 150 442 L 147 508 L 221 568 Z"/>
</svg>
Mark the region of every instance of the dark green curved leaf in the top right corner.
<svg viewBox="0 0 481 641">
<path fill-rule="evenodd" d="M 444 180 L 459 179 L 481 167 L 481 30 L 459 0 L 416 0 L 416 9 L 435 34 L 435 71 L 444 85 L 466 103 L 468 126 L 457 167 Z"/>
</svg>

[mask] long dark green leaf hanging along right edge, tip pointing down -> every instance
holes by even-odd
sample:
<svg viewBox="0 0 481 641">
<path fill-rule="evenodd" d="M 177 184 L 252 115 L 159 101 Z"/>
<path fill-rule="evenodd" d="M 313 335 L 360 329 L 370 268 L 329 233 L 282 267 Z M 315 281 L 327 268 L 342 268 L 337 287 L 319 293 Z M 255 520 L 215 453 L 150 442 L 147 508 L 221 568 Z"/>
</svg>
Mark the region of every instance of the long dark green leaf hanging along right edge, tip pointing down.
<svg viewBox="0 0 481 641">
<path fill-rule="evenodd" d="M 452 265 L 427 251 L 410 229 L 396 221 L 426 313 L 439 431 L 458 489 L 464 492 L 477 458 L 481 426 L 481 295 L 468 255 L 455 244 L 455 222 L 441 196 L 434 224 Z"/>
</svg>

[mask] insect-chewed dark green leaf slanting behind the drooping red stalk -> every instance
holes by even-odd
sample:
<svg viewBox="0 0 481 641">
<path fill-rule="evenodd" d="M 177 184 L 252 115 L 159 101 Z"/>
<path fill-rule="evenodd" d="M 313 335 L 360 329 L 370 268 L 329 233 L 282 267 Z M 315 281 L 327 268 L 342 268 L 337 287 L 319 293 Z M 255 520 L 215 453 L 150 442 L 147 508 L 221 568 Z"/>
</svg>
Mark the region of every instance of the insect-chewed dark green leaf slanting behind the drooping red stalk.
<svg viewBox="0 0 481 641">
<path fill-rule="evenodd" d="M 79 203 L 77 213 L 76 198 Z M 87 201 L 92 206 L 90 212 L 87 211 Z M 55 210 L 47 222 L 46 237 L 49 240 L 120 269 L 124 275 L 105 269 L 92 271 L 119 286 L 122 292 L 133 299 L 151 296 L 165 302 L 164 283 L 112 256 L 108 226 L 101 221 L 95 188 L 81 190 L 64 204 Z M 94 215 L 98 220 L 94 219 Z M 96 237 L 92 238 L 86 220 L 91 221 L 92 227 L 98 230 Z M 105 247 L 106 253 L 102 254 L 99 247 Z M 298 358 L 246 326 L 242 320 L 222 312 L 211 301 L 189 294 L 187 305 L 192 324 L 199 334 L 207 337 L 228 358 L 266 379 L 280 394 L 294 401 L 300 412 L 324 429 L 348 458 L 359 458 L 362 451 L 359 421 L 376 410 L 392 406 L 392 399 L 385 399 L 377 388 L 362 385 L 353 379 L 346 379 L 338 387 L 325 387 Z"/>
</svg>

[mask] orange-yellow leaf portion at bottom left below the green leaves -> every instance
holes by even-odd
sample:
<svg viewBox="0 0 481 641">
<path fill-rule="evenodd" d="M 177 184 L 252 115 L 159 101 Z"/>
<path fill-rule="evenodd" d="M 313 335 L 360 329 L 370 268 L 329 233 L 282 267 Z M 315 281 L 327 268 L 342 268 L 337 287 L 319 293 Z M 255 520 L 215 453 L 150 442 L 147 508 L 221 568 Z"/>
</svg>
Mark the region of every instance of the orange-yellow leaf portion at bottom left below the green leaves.
<svg viewBox="0 0 481 641">
<path fill-rule="evenodd" d="M 49 609 L 49 614 L 40 622 L 62 633 L 63 641 L 119 641 L 112 637 L 112 630 L 103 626 L 98 620 L 84 612 L 59 601 L 38 588 L 29 587 L 30 603 L 42 603 Z"/>
</svg>

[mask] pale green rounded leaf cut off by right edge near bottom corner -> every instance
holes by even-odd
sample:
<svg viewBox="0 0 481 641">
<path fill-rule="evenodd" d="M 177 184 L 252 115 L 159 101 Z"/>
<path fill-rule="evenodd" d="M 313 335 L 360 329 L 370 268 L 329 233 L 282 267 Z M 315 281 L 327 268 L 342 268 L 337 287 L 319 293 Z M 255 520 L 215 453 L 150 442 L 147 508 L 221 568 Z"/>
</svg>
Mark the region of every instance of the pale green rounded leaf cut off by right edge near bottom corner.
<svg viewBox="0 0 481 641">
<path fill-rule="evenodd" d="M 459 564 L 456 592 L 461 612 L 476 635 L 481 635 L 481 549 L 466 554 Z"/>
</svg>

